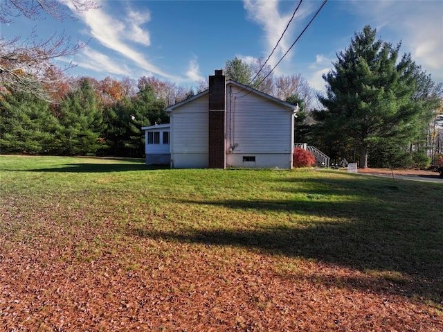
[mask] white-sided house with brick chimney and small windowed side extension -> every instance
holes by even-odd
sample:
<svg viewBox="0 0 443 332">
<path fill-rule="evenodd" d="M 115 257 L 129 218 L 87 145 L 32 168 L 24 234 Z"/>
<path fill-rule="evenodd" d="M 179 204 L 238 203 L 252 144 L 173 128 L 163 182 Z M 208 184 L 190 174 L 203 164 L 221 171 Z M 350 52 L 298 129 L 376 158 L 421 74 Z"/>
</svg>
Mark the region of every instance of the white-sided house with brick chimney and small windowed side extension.
<svg viewBox="0 0 443 332">
<path fill-rule="evenodd" d="M 208 90 L 165 111 L 170 124 L 142 128 L 147 164 L 168 164 L 169 153 L 171 168 L 292 168 L 298 107 L 226 81 L 221 70 Z"/>
</svg>

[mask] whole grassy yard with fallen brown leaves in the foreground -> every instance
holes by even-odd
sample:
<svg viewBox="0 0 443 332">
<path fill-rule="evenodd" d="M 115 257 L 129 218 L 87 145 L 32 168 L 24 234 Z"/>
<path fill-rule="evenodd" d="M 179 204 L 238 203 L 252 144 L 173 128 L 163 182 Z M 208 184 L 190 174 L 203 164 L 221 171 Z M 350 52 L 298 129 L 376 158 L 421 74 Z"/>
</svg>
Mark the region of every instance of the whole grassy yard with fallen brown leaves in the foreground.
<svg viewBox="0 0 443 332">
<path fill-rule="evenodd" d="M 0 157 L 1 331 L 443 331 L 443 186 Z"/>
</svg>

